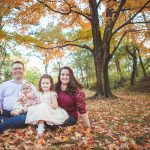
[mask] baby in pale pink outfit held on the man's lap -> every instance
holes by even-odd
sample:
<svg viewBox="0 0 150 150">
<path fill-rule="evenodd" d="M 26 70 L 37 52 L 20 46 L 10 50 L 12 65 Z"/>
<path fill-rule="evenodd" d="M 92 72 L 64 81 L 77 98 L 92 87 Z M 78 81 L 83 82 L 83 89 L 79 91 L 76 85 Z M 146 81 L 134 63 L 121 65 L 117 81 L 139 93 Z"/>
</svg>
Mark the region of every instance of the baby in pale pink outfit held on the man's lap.
<svg viewBox="0 0 150 150">
<path fill-rule="evenodd" d="M 31 84 L 29 82 L 25 82 L 21 87 L 21 94 L 18 98 L 17 102 L 13 106 L 13 110 L 11 111 L 11 115 L 19 115 L 20 113 L 27 112 L 29 106 L 36 104 L 36 97 L 32 91 Z"/>
</svg>

